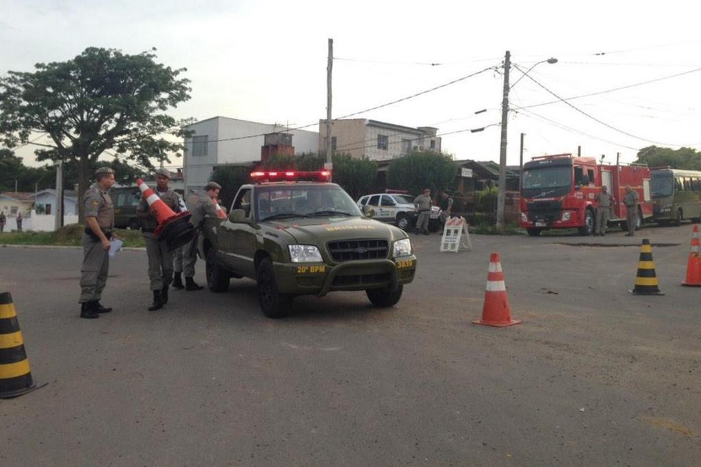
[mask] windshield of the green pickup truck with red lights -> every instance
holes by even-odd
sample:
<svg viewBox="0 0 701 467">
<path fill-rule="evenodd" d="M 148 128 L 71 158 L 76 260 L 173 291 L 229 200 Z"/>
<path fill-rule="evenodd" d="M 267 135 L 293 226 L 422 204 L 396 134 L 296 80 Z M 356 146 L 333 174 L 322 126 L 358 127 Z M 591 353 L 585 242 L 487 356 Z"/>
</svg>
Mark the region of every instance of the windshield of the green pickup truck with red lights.
<svg viewBox="0 0 701 467">
<path fill-rule="evenodd" d="M 360 216 L 360 209 L 346 191 L 335 186 L 290 185 L 256 189 L 256 217 L 311 217 L 313 215 Z"/>
</svg>

